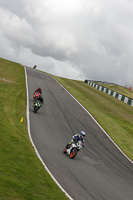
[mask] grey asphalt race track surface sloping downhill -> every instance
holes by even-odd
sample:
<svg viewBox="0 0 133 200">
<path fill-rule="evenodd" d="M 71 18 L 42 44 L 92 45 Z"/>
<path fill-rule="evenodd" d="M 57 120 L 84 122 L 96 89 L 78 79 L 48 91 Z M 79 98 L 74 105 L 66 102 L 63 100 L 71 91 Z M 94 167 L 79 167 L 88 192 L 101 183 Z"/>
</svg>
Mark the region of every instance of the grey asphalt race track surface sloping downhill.
<svg viewBox="0 0 133 200">
<path fill-rule="evenodd" d="M 133 164 L 51 76 L 26 68 L 32 140 L 48 169 L 74 200 L 133 200 Z M 33 112 L 33 91 L 44 104 Z M 70 159 L 63 148 L 84 130 L 85 148 Z"/>
</svg>

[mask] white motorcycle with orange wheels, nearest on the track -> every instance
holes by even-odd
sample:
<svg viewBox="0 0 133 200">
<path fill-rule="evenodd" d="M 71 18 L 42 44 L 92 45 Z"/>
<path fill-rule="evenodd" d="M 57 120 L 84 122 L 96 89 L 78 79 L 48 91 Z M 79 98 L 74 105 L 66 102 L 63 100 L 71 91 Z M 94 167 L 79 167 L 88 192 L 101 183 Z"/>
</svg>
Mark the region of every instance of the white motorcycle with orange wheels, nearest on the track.
<svg viewBox="0 0 133 200">
<path fill-rule="evenodd" d="M 81 140 L 79 140 L 76 144 L 75 143 L 67 144 L 64 147 L 63 152 L 69 155 L 69 157 L 72 159 L 75 158 L 78 151 L 80 151 L 80 149 L 82 148 L 84 148 L 84 143 Z"/>
</svg>

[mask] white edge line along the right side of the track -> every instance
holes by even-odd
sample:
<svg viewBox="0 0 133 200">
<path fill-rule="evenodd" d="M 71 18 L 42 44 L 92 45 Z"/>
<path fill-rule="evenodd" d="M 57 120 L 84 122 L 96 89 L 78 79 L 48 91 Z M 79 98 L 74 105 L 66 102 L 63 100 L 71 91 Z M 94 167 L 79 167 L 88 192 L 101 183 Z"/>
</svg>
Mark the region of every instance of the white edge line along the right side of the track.
<svg viewBox="0 0 133 200">
<path fill-rule="evenodd" d="M 52 77 L 53 78 L 53 77 Z M 53 78 L 55 81 L 57 81 L 55 78 Z M 63 85 L 61 85 L 58 81 L 57 83 L 64 89 L 66 90 L 66 92 L 68 92 L 68 90 L 66 88 L 63 87 Z M 77 101 L 77 103 L 90 115 L 90 117 L 95 121 L 95 123 L 102 129 L 102 131 L 107 135 L 107 137 L 113 142 L 113 144 L 117 147 L 117 149 L 119 149 L 119 151 L 133 164 L 133 161 L 117 146 L 117 144 L 114 142 L 114 140 L 112 140 L 112 138 L 108 135 L 108 133 L 106 133 L 106 131 L 101 127 L 101 125 L 96 121 L 96 119 L 89 113 L 89 111 L 70 93 L 68 92 L 68 94 L 75 100 Z"/>
</svg>

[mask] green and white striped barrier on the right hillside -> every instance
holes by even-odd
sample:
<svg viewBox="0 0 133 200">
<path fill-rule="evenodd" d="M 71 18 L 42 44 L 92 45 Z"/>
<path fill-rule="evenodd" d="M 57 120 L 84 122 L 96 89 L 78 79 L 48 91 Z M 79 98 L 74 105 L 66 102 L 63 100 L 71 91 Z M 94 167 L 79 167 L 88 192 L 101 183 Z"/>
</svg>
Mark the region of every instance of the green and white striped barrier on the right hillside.
<svg viewBox="0 0 133 200">
<path fill-rule="evenodd" d="M 123 95 L 123 94 L 115 92 L 115 91 L 113 91 L 113 90 L 111 90 L 109 88 L 106 88 L 104 86 L 98 85 L 98 84 L 96 84 L 96 83 L 94 83 L 92 81 L 89 81 L 89 80 L 85 80 L 85 83 L 87 83 L 88 85 L 90 85 L 90 86 L 92 86 L 92 87 L 94 87 L 94 88 L 96 88 L 96 89 L 98 89 L 98 90 L 100 90 L 100 91 L 102 91 L 104 93 L 107 93 L 110 96 L 113 96 L 113 97 L 119 99 L 120 101 L 123 101 L 126 104 L 129 104 L 130 106 L 133 106 L 133 99 L 131 99 L 131 98 L 129 98 L 129 97 Z"/>
</svg>

